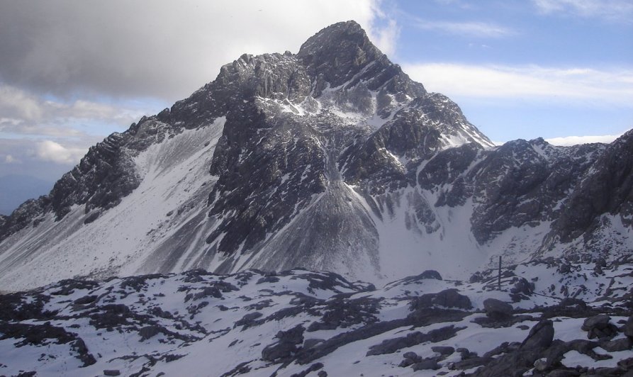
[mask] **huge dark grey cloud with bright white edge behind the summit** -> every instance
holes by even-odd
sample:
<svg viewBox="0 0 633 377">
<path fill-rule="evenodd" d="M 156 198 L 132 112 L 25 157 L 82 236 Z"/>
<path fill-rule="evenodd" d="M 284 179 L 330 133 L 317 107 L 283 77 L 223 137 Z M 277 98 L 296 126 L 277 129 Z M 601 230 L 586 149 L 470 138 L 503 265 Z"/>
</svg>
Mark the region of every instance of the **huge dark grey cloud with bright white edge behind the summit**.
<svg viewBox="0 0 633 377">
<path fill-rule="evenodd" d="M 393 52 L 396 23 L 356 1 L 9 1 L 0 12 L 0 81 L 57 96 L 159 96 L 172 102 L 244 52 L 298 51 L 355 19 Z M 24 111 L 28 111 L 25 108 Z"/>
</svg>

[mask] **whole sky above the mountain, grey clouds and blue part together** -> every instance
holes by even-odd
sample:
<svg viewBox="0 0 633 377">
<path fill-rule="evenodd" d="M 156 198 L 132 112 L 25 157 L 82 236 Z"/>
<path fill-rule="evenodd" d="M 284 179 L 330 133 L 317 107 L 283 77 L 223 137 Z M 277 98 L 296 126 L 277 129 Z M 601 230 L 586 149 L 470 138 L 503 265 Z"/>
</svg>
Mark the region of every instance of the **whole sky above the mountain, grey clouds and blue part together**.
<svg viewBox="0 0 633 377">
<path fill-rule="evenodd" d="M 0 177 L 55 181 L 243 53 L 350 19 L 495 142 L 633 128 L 630 0 L 0 0 Z"/>
</svg>

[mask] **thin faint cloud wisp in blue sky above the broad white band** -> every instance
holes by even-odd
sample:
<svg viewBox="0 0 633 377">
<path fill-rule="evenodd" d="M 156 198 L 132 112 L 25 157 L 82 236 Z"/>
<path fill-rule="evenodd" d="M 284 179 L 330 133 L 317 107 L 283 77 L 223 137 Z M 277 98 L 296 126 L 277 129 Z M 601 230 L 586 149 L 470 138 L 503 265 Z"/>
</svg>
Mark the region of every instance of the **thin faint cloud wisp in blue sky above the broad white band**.
<svg viewBox="0 0 633 377">
<path fill-rule="evenodd" d="M 415 26 L 423 30 L 475 38 L 505 38 L 516 34 L 515 30 L 510 28 L 484 22 L 427 21 L 418 18 L 415 20 Z"/>
</svg>

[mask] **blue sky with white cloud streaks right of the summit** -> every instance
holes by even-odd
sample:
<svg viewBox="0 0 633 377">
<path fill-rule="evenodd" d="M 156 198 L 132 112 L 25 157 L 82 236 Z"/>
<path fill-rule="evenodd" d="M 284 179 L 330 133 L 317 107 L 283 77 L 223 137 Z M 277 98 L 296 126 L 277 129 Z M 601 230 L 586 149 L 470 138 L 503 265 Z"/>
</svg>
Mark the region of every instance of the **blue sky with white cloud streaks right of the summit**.
<svg viewBox="0 0 633 377">
<path fill-rule="evenodd" d="M 618 135 L 633 127 L 633 2 L 398 1 L 393 60 L 486 135 Z"/>
</svg>

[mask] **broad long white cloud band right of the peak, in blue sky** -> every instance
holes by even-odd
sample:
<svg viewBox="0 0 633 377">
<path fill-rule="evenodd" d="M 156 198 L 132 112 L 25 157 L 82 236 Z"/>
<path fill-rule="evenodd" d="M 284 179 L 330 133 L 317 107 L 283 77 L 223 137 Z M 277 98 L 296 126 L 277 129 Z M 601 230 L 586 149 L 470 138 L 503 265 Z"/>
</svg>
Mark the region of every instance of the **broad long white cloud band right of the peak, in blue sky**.
<svg viewBox="0 0 633 377">
<path fill-rule="evenodd" d="M 633 68 L 588 69 L 469 64 L 403 64 L 429 91 L 448 96 L 633 106 Z"/>
</svg>

